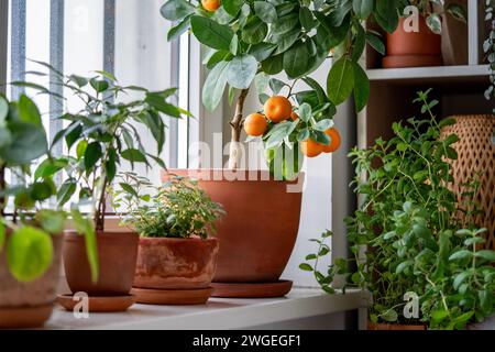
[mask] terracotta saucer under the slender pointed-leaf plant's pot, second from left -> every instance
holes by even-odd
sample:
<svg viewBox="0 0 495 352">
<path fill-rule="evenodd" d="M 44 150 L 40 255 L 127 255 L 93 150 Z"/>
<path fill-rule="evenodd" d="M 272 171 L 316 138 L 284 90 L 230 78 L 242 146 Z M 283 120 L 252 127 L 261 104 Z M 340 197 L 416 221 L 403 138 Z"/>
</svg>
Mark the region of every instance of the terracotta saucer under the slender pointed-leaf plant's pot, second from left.
<svg viewBox="0 0 495 352">
<path fill-rule="evenodd" d="M 58 295 L 57 302 L 65 309 L 72 311 L 79 300 L 74 300 L 73 295 Z M 88 297 L 88 311 L 114 312 L 128 310 L 135 302 L 133 295 L 116 297 Z"/>
</svg>

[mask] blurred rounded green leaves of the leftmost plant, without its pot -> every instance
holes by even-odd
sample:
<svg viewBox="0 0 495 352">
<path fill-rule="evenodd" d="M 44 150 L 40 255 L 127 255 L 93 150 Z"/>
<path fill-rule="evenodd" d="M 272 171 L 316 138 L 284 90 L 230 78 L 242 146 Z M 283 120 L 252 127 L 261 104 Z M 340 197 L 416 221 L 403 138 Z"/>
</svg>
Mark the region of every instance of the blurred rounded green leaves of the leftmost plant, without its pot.
<svg viewBox="0 0 495 352">
<path fill-rule="evenodd" d="M 6 251 L 7 265 L 20 282 L 34 280 L 50 268 L 52 237 L 63 232 L 67 218 L 50 204 L 56 195 L 53 175 L 40 168 L 33 173 L 33 164 L 42 157 L 52 155 L 36 105 L 25 95 L 18 101 L 0 95 L 0 252 Z M 77 210 L 73 217 L 77 227 L 87 224 Z M 92 229 L 81 233 L 94 243 Z M 88 245 L 88 253 L 96 253 L 96 248 Z M 96 279 L 98 265 L 92 264 Z"/>
</svg>

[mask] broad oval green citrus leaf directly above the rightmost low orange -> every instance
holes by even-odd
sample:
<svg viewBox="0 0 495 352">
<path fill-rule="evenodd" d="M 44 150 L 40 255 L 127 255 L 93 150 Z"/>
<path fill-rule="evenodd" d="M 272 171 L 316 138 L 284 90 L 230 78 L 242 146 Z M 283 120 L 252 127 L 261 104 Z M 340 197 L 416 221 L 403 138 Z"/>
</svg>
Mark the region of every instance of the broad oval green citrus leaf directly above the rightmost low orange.
<svg viewBox="0 0 495 352">
<path fill-rule="evenodd" d="M 344 102 L 354 89 L 353 63 L 342 57 L 333 64 L 327 79 L 327 94 L 330 101 L 339 106 Z"/>
</svg>

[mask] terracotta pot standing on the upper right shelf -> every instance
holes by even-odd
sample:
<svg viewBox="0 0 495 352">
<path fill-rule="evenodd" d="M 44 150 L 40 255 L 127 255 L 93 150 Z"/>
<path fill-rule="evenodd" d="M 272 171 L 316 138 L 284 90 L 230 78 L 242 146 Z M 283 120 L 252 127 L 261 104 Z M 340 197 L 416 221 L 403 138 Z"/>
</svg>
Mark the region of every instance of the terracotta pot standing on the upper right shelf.
<svg viewBox="0 0 495 352">
<path fill-rule="evenodd" d="M 406 32 L 405 21 L 402 18 L 397 30 L 387 33 L 387 56 L 383 59 L 383 67 L 441 66 L 441 35 L 431 32 L 424 16 L 419 16 L 418 32 Z"/>
</svg>

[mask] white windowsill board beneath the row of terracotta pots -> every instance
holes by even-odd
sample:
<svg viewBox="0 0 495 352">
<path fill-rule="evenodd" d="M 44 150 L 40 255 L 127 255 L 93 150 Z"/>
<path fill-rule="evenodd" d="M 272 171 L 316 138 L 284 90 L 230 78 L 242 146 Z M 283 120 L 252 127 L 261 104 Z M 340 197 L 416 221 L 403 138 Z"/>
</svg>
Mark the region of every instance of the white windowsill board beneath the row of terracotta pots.
<svg viewBox="0 0 495 352">
<path fill-rule="evenodd" d="M 134 305 L 125 312 L 89 314 L 88 319 L 76 319 L 73 312 L 56 307 L 45 329 L 249 329 L 359 309 L 366 302 L 367 295 L 360 290 L 328 295 L 316 288 L 294 288 L 285 298 L 211 298 L 205 306 Z"/>
</svg>

